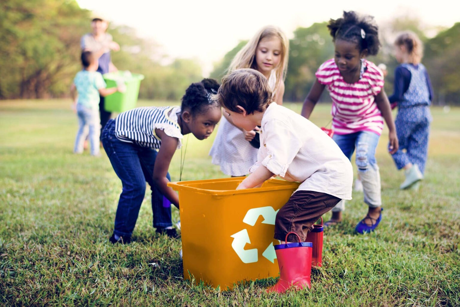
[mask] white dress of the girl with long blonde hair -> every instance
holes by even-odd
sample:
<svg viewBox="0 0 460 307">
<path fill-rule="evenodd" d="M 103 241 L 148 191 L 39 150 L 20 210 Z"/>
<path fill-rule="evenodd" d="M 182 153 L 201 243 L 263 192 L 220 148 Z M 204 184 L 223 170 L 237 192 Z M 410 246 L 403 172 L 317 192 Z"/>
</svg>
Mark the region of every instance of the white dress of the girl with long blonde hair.
<svg viewBox="0 0 460 307">
<path fill-rule="evenodd" d="M 276 86 L 276 72 L 271 71 L 268 85 L 272 90 Z M 275 92 L 273 92 L 275 95 Z M 244 133 L 232 125 L 224 116 L 219 122 L 217 136 L 209 155 L 212 163 L 220 165 L 220 170 L 228 176 L 245 176 L 249 168 L 257 161 L 257 151 L 244 138 Z"/>
</svg>

